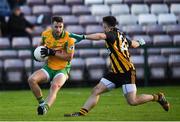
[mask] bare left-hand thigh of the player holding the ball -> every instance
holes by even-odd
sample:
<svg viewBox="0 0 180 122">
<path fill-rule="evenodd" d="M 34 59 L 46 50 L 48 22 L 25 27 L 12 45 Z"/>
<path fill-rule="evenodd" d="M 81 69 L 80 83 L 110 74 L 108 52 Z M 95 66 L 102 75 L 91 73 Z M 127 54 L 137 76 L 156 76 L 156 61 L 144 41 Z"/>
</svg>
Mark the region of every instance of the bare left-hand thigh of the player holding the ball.
<svg viewBox="0 0 180 122">
<path fill-rule="evenodd" d="M 43 70 L 37 70 L 35 71 L 29 79 L 32 79 L 32 81 L 40 83 L 40 82 L 47 82 L 48 77 L 47 74 Z"/>
</svg>

